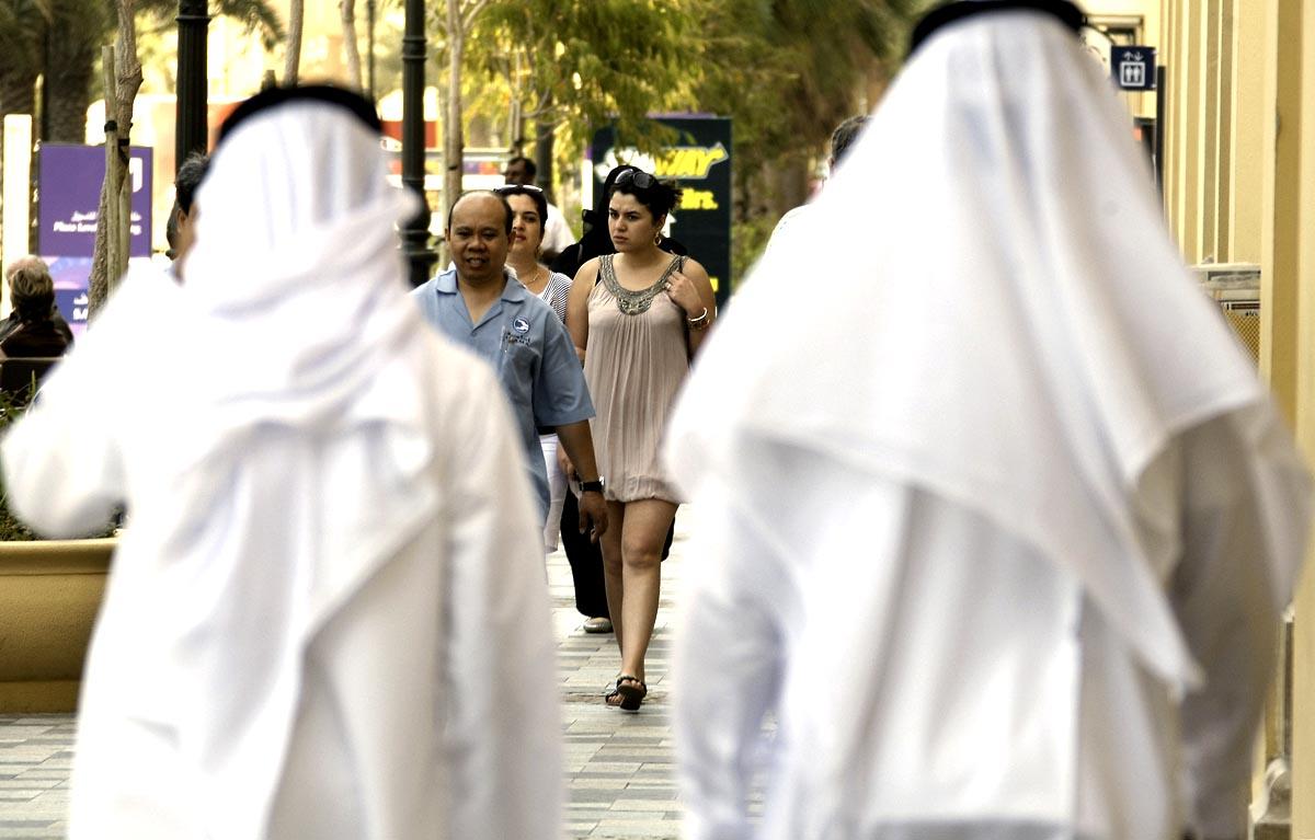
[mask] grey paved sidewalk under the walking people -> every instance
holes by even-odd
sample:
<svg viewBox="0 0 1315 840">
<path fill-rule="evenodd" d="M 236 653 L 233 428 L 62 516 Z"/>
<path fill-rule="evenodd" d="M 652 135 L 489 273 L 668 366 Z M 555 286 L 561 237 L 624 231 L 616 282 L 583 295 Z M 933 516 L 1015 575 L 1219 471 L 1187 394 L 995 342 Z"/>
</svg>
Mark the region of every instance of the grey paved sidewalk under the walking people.
<svg viewBox="0 0 1315 840">
<path fill-rule="evenodd" d="M 648 699 L 638 714 L 602 705 L 602 691 L 619 665 L 615 640 L 580 630 L 565 556 L 548 557 L 565 726 L 563 836 L 571 840 L 680 836 L 667 705 L 682 528 L 676 536 L 663 564 L 661 609 L 646 664 Z M 0 715 L 0 840 L 64 836 L 72 737 L 72 715 Z"/>
</svg>

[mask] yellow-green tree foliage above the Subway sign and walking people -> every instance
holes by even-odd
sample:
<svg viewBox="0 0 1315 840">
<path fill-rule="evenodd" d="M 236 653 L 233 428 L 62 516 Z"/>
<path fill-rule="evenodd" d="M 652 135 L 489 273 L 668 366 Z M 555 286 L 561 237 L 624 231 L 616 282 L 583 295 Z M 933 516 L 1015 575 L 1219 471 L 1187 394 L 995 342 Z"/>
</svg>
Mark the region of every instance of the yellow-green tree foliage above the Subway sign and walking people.
<svg viewBox="0 0 1315 840">
<path fill-rule="evenodd" d="M 508 125 L 522 154 L 537 139 L 523 133 L 552 131 L 565 163 L 605 125 L 652 154 L 676 138 L 648 114 L 729 116 L 735 217 L 776 217 L 806 195 L 831 130 L 893 74 L 927 3 L 489 0 L 464 39 L 463 122 Z M 443 67 L 444 20 L 431 8 Z"/>
</svg>

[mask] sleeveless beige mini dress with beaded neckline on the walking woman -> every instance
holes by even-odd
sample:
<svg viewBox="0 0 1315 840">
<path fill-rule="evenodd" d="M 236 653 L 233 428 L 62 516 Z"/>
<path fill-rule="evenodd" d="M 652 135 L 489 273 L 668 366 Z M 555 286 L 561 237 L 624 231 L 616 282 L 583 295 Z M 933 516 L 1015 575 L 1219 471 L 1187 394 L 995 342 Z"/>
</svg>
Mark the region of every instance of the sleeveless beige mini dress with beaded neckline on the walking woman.
<svg viewBox="0 0 1315 840">
<path fill-rule="evenodd" d="M 660 498 L 679 503 L 658 457 L 667 415 L 689 371 L 685 313 L 663 292 L 684 264 L 672 259 L 658 283 L 640 292 L 621 287 L 613 255 L 600 256 L 589 293 L 584 377 L 597 413 L 592 421 L 598 472 L 609 501 Z"/>
</svg>

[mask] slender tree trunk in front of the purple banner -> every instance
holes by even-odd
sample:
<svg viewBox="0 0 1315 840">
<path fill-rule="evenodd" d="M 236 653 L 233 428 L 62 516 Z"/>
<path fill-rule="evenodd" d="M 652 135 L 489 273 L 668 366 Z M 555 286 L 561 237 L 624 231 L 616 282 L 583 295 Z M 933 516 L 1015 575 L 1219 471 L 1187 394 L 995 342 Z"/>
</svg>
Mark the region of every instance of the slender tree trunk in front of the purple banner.
<svg viewBox="0 0 1315 840">
<path fill-rule="evenodd" d="M 120 260 L 121 264 L 109 264 L 109 237 L 120 237 L 120 241 L 125 243 L 129 238 L 122 237 L 121 231 L 109 230 L 107 217 L 109 202 L 121 201 L 124 188 L 132 188 L 132 179 L 128 177 L 128 139 L 133 128 L 133 100 L 137 99 L 137 91 L 142 87 L 142 64 L 137 59 L 137 33 L 133 28 L 133 3 L 134 0 L 118 0 L 118 43 L 114 47 L 116 58 L 113 70 L 117 108 L 114 108 L 113 114 L 107 113 L 105 117 L 107 120 L 113 117 L 118 124 L 117 135 L 124 141 L 118 150 L 122 166 L 118 168 L 118 183 L 110 183 L 109 172 L 107 172 L 105 181 L 100 189 L 100 208 L 96 213 L 96 247 L 92 252 L 91 277 L 87 280 L 89 317 L 95 317 L 100 312 L 110 291 L 118 285 L 120 276 L 128 264 L 126 247 Z M 105 75 L 108 76 L 109 74 Z M 105 139 L 109 142 L 109 135 Z M 121 221 L 122 225 L 132 222 L 130 218 L 122 218 Z"/>
</svg>

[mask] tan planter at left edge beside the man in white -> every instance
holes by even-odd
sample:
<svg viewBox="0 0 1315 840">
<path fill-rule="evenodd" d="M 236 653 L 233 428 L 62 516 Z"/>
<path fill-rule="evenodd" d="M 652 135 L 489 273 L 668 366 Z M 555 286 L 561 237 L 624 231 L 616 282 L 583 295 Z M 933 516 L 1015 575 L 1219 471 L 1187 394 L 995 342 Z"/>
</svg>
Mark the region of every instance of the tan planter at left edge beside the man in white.
<svg viewBox="0 0 1315 840">
<path fill-rule="evenodd" d="M 0 711 L 74 711 L 114 539 L 0 542 Z"/>
</svg>

